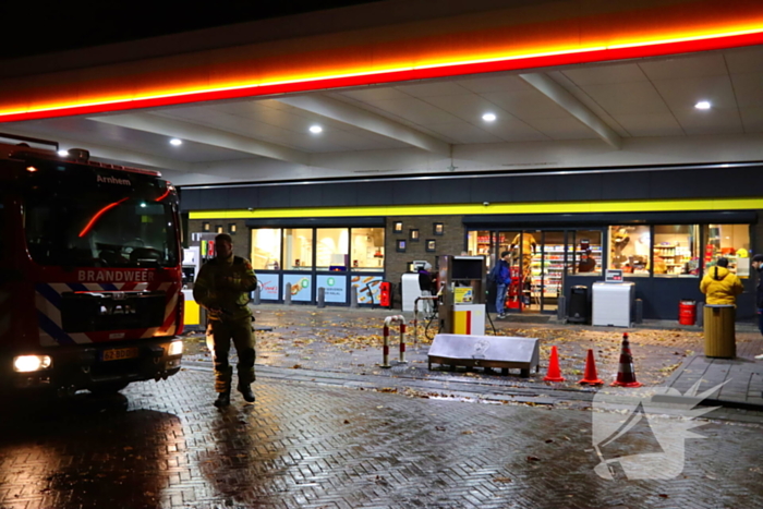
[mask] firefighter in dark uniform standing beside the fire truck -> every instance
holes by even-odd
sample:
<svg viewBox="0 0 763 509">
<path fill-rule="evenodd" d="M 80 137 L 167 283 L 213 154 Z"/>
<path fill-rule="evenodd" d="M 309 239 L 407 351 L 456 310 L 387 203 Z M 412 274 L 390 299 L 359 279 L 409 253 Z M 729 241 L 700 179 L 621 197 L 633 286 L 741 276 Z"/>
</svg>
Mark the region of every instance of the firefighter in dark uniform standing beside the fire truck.
<svg viewBox="0 0 763 509">
<path fill-rule="evenodd" d="M 193 287 L 194 300 L 207 310 L 207 340 L 211 339 L 215 363 L 215 407 L 230 404 L 233 367 L 228 364 L 230 343 L 239 355 L 238 390 L 247 402 L 254 402 L 254 332 L 252 312 L 246 306 L 249 292 L 257 286 L 252 265 L 241 256 L 233 256 L 233 241 L 227 233 L 215 238 L 216 256 L 198 271 Z"/>
</svg>

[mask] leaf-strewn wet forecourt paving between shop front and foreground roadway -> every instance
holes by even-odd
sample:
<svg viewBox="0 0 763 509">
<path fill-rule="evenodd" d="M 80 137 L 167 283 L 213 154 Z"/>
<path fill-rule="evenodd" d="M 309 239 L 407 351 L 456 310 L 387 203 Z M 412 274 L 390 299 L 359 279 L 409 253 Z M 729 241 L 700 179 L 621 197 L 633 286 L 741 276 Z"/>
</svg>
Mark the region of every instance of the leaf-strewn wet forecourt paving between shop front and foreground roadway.
<svg viewBox="0 0 763 509">
<path fill-rule="evenodd" d="M 580 325 L 536 324 L 518 322 L 511 317 L 494 320 L 495 332 L 487 324 L 488 334 L 520 336 L 540 339 L 541 372 L 530 378 L 519 377 L 511 371 L 509 376 L 500 372 L 486 373 L 476 368 L 467 371 L 459 367 L 450 372 L 450 366 L 433 365 L 427 368 L 427 351 L 435 335 L 435 325 L 419 326 L 419 341 L 413 340 L 409 326 L 407 334 L 405 365 L 393 369 L 380 367 L 383 355 L 382 326 L 384 318 L 398 311 L 323 308 L 313 306 L 261 305 L 253 307 L 258 327 L 271 327 L 271 331 L 258 331 L 257 364 L 293 369 L 317 369 L 358 375 L 389 375 L 425 379 L 450 379 L 471 377 L 489 380 L 494 384 L 513 387 L 553 387 L 569 390 L 591 390 L 581 387 L 588 350 L 595 355 L 600 378 L 607 384 L 617 378 L 622 334 L 629 334 L 637 378 L 646 386 L 658 386 L 670 378 L 685 360 L 703 351 L 703 336 L 699 328 L 635 328 L 591 327 Z M 411 323 L 411 314 L 405 314 Z M 420 322 L 421 323 L 421 322 Z M 390 361 L 399 359 L 398 329 L 390 331 Z M 428 336 L 428 338 L 427 338 Z M 208 363 L 209 352 L 201 334 L 186 337 L 186 364 Z M 548 366 L 553 346 L 559 352 L 559 364 L 564 383 L 545 383 L 543 377 Z M 763 338 L 750 328 L 737 334 L 737 350 L 740 356 L 752 357 L 763 352 Z"/>
</svg>

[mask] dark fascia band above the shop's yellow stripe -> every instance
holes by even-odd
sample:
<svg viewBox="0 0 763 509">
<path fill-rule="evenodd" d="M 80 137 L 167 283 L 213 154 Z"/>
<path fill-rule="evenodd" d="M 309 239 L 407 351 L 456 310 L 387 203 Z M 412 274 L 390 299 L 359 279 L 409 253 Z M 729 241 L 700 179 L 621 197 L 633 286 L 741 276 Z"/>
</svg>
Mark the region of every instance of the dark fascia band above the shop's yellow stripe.
<svg viewBox="0 0 763 509">
<path fill-rule="evenodd" d="M 723 166 L 726 166 L 724 168 Z M 555 203 L 760 196 L 763 165 L 577 169 L 182 187 L 183 210 Z M 738 182 L 718 185 L 718 182 Z M 491 213 L 489 205 L 485 213 Z"/>
</svg>

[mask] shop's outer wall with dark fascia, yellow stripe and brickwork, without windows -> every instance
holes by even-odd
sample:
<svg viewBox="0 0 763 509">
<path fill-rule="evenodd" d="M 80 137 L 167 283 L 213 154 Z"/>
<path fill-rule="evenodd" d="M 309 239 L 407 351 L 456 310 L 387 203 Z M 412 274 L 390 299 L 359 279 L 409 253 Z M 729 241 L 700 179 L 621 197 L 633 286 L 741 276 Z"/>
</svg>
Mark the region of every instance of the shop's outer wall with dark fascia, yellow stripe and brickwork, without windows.
<svg viewBox="0 0 763 509">
<path fill-rule="evenodd" d="M 235 225 L 235 253 L 246 257 L 252 227 L 379 221 L 375 226 L 384 226 L 386 232 L 384 276 L 397 286 L 410 262 L 425 259 L 434 266 L 438 256 L 460 254 L 468 230 L 738 223 L 749 225 L 751 252 L 763 253 L 760 191 L 753 185 L 716 184 L 753 183 L 762 170 L 763 165 L 750 163 L 185 187 L 181 206 L 193 218 L 192 232 L 203 231 L 205 223 L 213 232 L 218 226 L 228 231 Z M 443 225 L 441 235 L 435 234 L 435 223 Z M 417 240 L 411 239 L 411 230 L 419 231 Z M 399 241 L 404 241 L 404 252 L 398 250 Z M 432 251 L 428 241 L 434 241 Z M 596 280 L 576 278 L 567 280 L 566 294 L 572 284 Z M 633 280 L 646 318 L 676 319 L 678 301 L 704 299 L 699 278 Z M 739 298 L 742 319 L 754 313 L 754 275 L 744 280 L 747 292 Z"/>
</svg>

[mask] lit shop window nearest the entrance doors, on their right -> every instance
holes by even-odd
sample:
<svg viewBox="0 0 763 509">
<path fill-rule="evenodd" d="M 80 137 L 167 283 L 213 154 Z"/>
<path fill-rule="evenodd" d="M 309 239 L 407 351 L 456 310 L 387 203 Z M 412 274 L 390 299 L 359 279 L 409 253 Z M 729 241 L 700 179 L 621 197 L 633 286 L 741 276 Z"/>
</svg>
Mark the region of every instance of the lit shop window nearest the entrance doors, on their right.
<svg viewBox="0 0 763 509">
<path fill-rule="evenodd" d="M 652 235 L 646 225 L 611 226 L 607 232 L 610 269 L 625 276 L 649 276 Z"/>
</svg>

